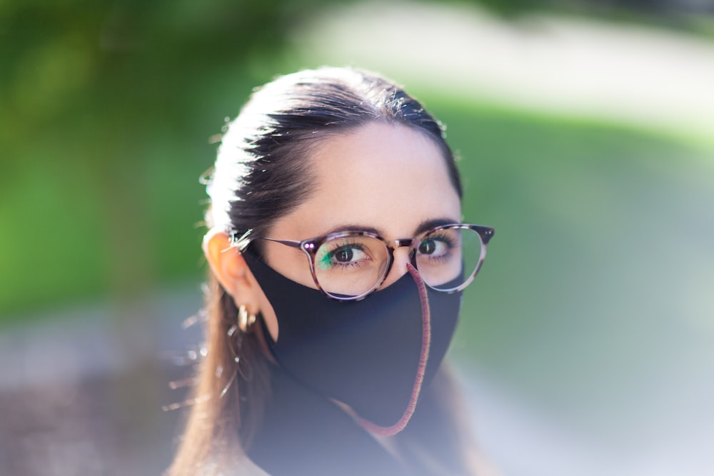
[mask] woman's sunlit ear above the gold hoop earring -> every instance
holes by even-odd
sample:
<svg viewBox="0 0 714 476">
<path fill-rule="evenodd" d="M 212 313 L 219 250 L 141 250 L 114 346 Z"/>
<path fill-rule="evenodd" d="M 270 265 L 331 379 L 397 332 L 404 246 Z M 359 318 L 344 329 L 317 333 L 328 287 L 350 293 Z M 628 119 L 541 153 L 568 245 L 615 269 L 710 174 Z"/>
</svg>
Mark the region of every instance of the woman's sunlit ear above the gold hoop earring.
<svg viewBox="0 0 714 476">
<path fill-rule="evenodd" d="M 217 228 L 209 230 L 203 236 L 203 253 L 213 275 L 233 297 L 236 307 L 244 305 L 248 313 L 258 313 L 262 291 L 228 233 Z"/>
</svg>

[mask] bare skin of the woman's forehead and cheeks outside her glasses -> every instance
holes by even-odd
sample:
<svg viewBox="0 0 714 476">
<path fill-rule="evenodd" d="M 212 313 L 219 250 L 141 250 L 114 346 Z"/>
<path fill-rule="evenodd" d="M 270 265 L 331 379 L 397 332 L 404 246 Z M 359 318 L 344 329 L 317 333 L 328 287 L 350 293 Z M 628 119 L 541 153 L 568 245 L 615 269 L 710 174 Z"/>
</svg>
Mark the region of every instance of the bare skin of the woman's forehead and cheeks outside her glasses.
<svg viewBox="0 0 714 476">
<path fill-rule="evenodd" d="M 367 230 L 387 240 L 411 238 L 433 221 L 461 221 L 461 203 L 436 144 L 406 126 L 369 123 L 327 138 L 313 149 L 309 170 L 314 189 L 295 211 L 280 218 L 270 238 L 304 240 L 333 231 Z M 268 265 L 315 288 L 305 253 L 263 241 Z M 406 273 L 408 249 L 394 252 L 382 288 Z M 267 298 L 259 307 L 273 339 L 278 323 Z"/>
</svg>

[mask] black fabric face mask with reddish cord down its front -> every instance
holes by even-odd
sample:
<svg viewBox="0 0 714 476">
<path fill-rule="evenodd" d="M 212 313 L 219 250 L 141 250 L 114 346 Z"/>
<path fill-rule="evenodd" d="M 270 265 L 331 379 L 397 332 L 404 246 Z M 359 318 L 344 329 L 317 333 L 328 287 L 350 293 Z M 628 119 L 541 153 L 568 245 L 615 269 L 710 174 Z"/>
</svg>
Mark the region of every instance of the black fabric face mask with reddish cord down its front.
<svg viewBox="0 0 714 476">
<path fill-rule="evenodd" d="M 428 288 L 409 265 L 409 273 L 365 300 L 338 301 L 248 250 L 243 258 L 275 310 L 278 340 L 266 333 L 266 341 L 286 373 L 349 405 L 368 430 L 401 431 L 446 354 L 461 293 Z"/>
</svg>

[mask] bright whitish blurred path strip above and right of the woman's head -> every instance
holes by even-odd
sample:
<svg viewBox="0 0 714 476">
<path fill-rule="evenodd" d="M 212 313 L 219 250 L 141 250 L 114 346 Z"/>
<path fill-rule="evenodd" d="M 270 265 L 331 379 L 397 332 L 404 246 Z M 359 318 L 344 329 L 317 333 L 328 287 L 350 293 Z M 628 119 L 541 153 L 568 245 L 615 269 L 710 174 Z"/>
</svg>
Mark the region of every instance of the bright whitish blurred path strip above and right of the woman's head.
<svg viewBox="0 0 714 476">
<path fill-rule="evenodd" d="M 297 31 L 310 61 L 416 79 L 454 98 L 604 118 L 714 143 L 714 42 L 564 16 L 366 2 Z"/>
</svg>

